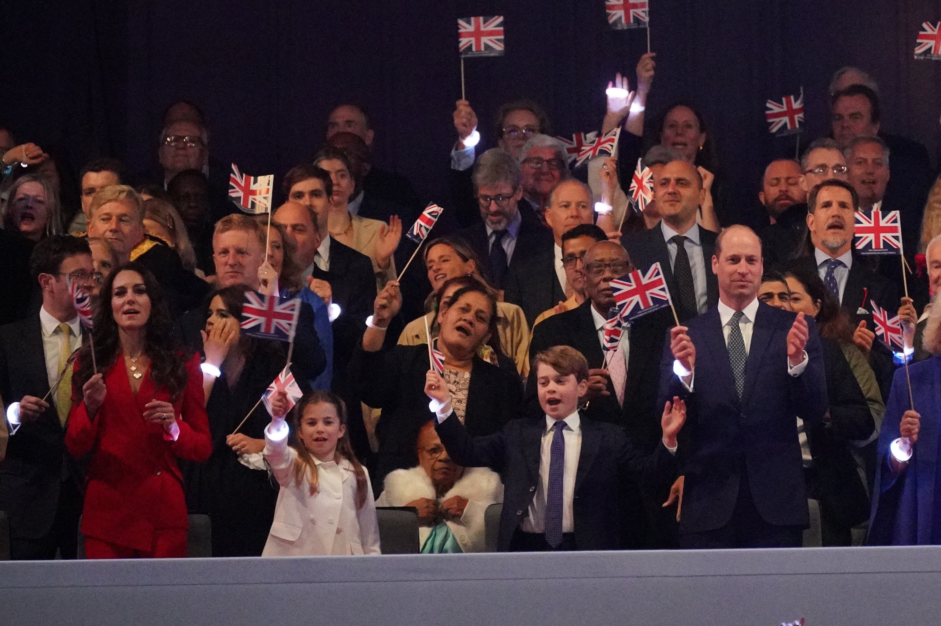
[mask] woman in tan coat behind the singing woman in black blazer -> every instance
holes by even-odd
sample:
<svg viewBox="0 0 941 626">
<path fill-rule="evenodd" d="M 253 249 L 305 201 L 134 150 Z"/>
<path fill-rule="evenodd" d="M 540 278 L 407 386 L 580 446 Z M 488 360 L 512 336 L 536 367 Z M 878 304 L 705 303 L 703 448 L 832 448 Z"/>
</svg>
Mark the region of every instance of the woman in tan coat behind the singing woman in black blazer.
<svg viewBox="0 0 941 626">
<path fill-rule="evenodd" d="M 464 240 L 450 237 L 440 237 L 428 243 L 424 248 L 424 265 L 428 273 L 428 282 L 431 283 L 432 292 L 428 295 L 424 303 L 424 310 L 428 311 L 422 318 L 409 321 L 399 336 L 399 345 L 419 346 L 428 343 L 424 332 L 424 323 L 432 331 L 432 336 L 438 335 L 438 303 L 441 300 L 441 291 L 446 283 L 459 276 L 469 276 L 483 285 L 490 292 L 490 296 L 497 300 L 497 291 L 492 290 L 486 284 L 486 280 L 480 274 L 480 268 L 486 267 L 481 264 L 480 259 L 474 253 L 473 249 L 464 243 Z M 497 302 L 497 333 L 500 347 L 494 343 L 495 339 L 487 342 L 487 347 L 496 350 L 490 350 L 481 353 L 484 360 L 498 365 L 497 357 L 505 355 L 516 365 L 519 375 L 522 377 L 529 375 L 529 341 L 530 332 L 526 325 L 526 316 L 518 305 L 511 305 L 508 302 Z M 501 350 L 502 348 L 502 350 Z M 492 354 L 493 358 L 487 358 L 486 355 Z"/>
</svg>

